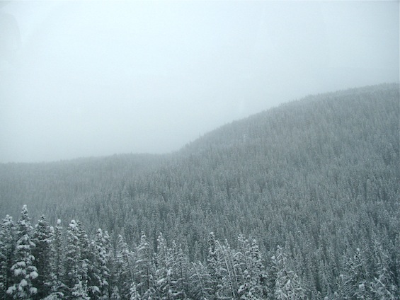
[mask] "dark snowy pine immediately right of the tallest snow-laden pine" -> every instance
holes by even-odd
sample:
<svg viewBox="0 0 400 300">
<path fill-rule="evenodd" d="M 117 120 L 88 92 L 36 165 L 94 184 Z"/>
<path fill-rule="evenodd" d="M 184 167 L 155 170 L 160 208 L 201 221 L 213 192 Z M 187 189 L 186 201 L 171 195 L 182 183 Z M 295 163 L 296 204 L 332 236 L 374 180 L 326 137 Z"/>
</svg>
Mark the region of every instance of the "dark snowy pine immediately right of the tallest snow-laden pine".
<svg viewBox="0 0 400 300">
<path fill-rule="evenodd" d="M 38 277 L 34 280 L 38 293 L 34 299 L 43 299 L 50 294 L 51 290 L 51 254 L 52 254 L 52 232 L 44 216 L 40 217 L 38 224 L 33 231 L 33 248 L 32 253 L 35 257 L 35 267 L 38 270 Z"/>
</svg>

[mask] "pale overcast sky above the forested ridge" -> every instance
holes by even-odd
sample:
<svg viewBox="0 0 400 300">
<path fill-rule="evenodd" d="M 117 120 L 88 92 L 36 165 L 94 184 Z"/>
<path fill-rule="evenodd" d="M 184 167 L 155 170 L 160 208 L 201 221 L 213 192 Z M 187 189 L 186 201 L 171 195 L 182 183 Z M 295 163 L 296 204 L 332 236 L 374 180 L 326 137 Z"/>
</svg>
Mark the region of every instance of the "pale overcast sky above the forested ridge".
<svg viewBox="0 0 400 300">
<path fill-rule="evenodd" d="M 399 1 L 0 2 L 0 162 L 175 151 L 399 81 Z"/>
</svg>

